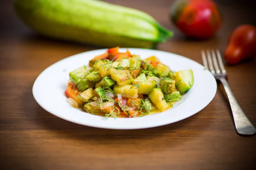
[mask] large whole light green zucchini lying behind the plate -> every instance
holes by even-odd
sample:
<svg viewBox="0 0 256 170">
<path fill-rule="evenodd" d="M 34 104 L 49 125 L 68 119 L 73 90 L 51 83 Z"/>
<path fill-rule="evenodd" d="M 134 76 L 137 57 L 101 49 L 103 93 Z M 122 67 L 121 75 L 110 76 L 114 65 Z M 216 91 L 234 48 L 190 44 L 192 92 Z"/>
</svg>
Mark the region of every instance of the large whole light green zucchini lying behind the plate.
<svg viewBox="0 0 256 170">
<path fill-rule="evenodd" d="M 104 47 L 154 48 L 172 36 L 142 11 L 99 0 L 16 0 L 15 11 L 45 36 Z"/>
</svg>

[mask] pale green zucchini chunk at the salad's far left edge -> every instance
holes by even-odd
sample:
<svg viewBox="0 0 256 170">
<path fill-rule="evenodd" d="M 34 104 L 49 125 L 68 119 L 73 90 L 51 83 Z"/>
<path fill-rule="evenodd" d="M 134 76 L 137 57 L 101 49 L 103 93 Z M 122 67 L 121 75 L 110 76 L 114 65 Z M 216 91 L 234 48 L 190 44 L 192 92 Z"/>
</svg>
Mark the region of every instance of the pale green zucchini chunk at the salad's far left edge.
<svg viewBox="0 0 256 170">
<path fill-rule="evenodd" d="M 74 83 L 74 85 L 77 86 L 81 79 L 83 79 L 87 74 L 89 74 L 89 71 L 87 70 L 87 67 L 84 65 L 71 71 L 69 75 L 70 80 Z"/>
</svg>

